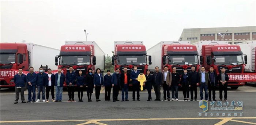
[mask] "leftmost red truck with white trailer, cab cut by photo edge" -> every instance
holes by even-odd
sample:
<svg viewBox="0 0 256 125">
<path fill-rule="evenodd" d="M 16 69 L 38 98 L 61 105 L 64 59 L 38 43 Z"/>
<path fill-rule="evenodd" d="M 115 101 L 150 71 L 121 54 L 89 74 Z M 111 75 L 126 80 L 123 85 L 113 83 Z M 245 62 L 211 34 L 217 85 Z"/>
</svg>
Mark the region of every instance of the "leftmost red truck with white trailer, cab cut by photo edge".
<svg viewBox="0 0 256 125">
<path fill-rule="evenodd" d="M 54 61 L 54 55 L 59 52 L 59 49 L 33 43 L 0 43 L 0 87 L 15 87 L 13 78 L 19 68 L 22 68 L 24 73 L 29 71 L 31 66 L 34 71 L 38 71 L 42 65 L 45 71 L 47 68 L 56 69 L 56 66 L 49 62 Z"/>
</svg>

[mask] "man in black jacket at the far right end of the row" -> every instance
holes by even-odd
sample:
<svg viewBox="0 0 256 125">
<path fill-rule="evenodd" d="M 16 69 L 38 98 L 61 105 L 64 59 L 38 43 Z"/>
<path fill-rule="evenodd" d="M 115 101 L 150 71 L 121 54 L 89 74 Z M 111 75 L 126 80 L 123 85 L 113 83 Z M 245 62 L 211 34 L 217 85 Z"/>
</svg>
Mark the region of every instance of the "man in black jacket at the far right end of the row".
<svg viewBox="0 0 256 125">
<path fill-rule="evenodd" d="M 224 90 L 224 100 L 227 101 L 227 81 L 229 81 L 229 75 L 227 75 L 226 69 L 221 68 L 221 73 L 219 73 L 219 100 L 222 101 L 222 91 Z"/>
</svg>

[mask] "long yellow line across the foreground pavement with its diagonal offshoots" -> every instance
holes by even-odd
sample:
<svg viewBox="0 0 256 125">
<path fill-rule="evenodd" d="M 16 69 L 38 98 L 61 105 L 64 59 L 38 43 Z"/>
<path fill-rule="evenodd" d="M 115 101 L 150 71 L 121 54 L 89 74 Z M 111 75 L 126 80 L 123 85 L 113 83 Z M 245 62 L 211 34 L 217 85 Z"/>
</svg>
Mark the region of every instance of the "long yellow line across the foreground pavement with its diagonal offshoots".
<svg viewBox="0 0 256 125">
<path fill-rule="evenodd" d="M 234 122 L 242 122 L 242 123 L 248 123 L 248 124 L 256 124 L 253 122 L 245 122 L 245 121 L 238 121 L 238 120 L 232 120 L 232 119 L 256 119 L 256 117 L 215 117 L 215 118 L 131 118 L 131 119 L 99 119 L 99 120 L 31 120 L 31 121 L 0 121 L 0 123 L 19 123 L 19 122 L 78 122 L 83 121 L 85 123 L 78 124 L 78 125 L 86 125 L 90 123 L 98 124 L 98 125 L 106 125 L 103 123 L 100 123 L 98 121 L 140 121 L 140 120 L 203 120 L 203 119 L 220 119 L 221 122 L 218 122 L 217 125 L 222 125 L 228 121 L 234 121 Z"/>
</svg>

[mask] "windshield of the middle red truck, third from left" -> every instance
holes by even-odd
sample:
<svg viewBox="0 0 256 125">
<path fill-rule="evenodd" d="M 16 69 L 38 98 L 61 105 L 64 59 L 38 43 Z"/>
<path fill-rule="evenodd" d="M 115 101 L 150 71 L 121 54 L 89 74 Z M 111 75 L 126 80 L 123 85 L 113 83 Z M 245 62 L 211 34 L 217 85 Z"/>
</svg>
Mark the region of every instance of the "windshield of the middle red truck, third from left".
<svg viewBox="0 0 256 125">
<path fill-rule="evenodd" d="M 136 65 L 146 65 L 147 64 L 147 59 L 146 55 L 136 55 L 136 56 L 118 56 L 117 58 L 117 64 L 122 65 L 129 65 L 129 64 L 136 64 Z"/>
</svg>

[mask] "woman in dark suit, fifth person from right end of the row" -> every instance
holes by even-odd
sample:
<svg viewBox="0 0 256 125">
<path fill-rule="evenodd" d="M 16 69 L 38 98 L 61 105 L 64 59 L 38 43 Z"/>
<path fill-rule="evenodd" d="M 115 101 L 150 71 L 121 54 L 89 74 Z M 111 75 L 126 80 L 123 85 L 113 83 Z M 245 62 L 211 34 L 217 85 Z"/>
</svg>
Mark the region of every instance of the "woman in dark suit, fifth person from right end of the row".
<svg viewBox="0 0 256 125">
<path fill-rule="evenodd" d="M 184 73 L 181 76 L 180 82 L 181 82 L 181 87 L 182 87 L 183 96 L 184 96 L 183 101 L 188 101 L 190 85 L 189 85 L 189 74 L 188 74 L 187 69 L 184 69 Z M 187 94 L 187 96 L 186 96 L 186 94 Z"/>
</svg>

